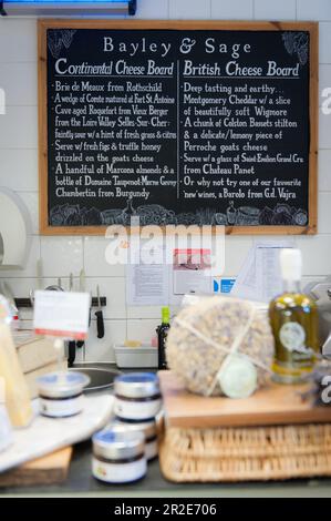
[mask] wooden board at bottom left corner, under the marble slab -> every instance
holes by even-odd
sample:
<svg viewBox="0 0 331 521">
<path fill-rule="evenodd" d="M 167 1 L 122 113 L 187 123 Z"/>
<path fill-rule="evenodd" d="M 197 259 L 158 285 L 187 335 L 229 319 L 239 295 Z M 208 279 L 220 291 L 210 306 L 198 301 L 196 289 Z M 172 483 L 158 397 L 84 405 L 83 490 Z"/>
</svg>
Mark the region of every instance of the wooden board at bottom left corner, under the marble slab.
<svg viewBox="0 0 331 521">
<path fill-rule="evenodd" d="M 66 479 L 71 456 L 72 447 L 66 447 L 0 473 L 0 487 L 60 483 Z"/>
</svg>

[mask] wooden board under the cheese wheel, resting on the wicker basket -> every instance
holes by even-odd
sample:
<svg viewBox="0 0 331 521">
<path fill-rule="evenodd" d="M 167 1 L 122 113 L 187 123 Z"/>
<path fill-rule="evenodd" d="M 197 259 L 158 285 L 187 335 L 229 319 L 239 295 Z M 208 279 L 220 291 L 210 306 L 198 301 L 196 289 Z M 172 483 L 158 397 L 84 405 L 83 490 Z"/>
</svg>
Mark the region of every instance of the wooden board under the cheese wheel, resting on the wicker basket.
<svg viewBox="0 0 331 521">
<path fill-rule="evenodd" d="M 159 371 L 166 423 L 169 427 L 250 427 L 331 422 L 331 406 L 314 407 L 301 395 L 309 386 L 270 382 L 250 398 L 206 398 L 188 392 L 172 371 Z"/>
</svg>

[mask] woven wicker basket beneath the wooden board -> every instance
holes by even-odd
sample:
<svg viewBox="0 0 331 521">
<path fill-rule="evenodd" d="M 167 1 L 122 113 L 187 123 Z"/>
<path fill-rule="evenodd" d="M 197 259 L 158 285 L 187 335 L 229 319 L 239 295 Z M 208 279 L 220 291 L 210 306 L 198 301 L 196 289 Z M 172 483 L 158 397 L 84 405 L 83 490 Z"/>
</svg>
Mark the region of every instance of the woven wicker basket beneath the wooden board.
<svg viewBox="0 0 331 521">
<path fill-rule="evenodd" d="M 166 429 L 162 472 L 175 482 L 331 476 L 331 425 Z"/>
</svg>

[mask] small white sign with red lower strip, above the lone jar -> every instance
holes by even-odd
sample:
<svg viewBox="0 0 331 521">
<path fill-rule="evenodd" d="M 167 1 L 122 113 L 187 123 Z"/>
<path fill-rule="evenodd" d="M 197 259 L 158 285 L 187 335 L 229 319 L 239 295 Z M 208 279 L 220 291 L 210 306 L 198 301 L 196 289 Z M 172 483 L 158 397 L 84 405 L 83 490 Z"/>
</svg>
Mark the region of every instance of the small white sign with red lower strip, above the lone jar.
<svg viewBox="0 0 331 521">
<path fill-rule="evenodd" d="M 35 292 L 34 333 L 84 340 L 89 330 L 90 304 L 89 293 Z"/>
</svg>

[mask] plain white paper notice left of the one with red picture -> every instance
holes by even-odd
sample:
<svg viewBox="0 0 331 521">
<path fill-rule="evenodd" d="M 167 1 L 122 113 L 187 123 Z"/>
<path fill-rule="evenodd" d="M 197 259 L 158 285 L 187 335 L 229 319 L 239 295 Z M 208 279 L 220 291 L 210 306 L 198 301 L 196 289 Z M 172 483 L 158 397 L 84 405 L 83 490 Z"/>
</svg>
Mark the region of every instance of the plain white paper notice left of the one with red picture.
<svg viewBox="0 0 331 521">
<path fill-rule="evenodd" d="M 128 306 L 165 306 L 168 303 L 168 266 L 164 260 L 164 248 L 154 253 L 154 262 L 144 259 L 144 249 L 137 249 L 134 263 L 126 267 L 126 302 Z M 147 256 L 147 255 L 146 255 Z M 155 263 L 159 256 L 159 263 Z"/>
</svg>

